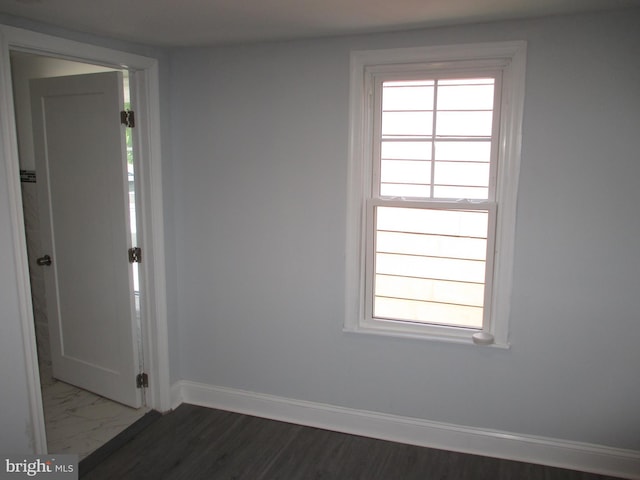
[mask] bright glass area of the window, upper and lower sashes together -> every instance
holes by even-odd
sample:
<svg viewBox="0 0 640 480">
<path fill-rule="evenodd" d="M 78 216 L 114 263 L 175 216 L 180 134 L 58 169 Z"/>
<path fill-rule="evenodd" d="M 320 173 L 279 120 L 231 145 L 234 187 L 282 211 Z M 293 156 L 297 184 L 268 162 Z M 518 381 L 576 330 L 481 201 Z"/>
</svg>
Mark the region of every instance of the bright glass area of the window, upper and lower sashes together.
<svg viewBox="0 0 640 480">
<path fill-rule="evenodd" d="M 391 202 L 373 207 L 374 317 L 482 328 L 493 202 L 459 209 L 458 200 L 489 200 L 494 86 L 494 78 L 382 82 L 375 193 Z M 411 198 L 410 208 L 396 198 Z"/>
</svg>

